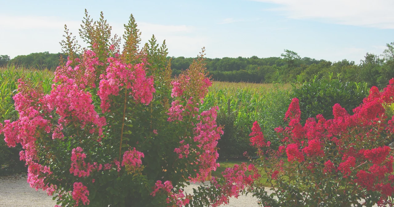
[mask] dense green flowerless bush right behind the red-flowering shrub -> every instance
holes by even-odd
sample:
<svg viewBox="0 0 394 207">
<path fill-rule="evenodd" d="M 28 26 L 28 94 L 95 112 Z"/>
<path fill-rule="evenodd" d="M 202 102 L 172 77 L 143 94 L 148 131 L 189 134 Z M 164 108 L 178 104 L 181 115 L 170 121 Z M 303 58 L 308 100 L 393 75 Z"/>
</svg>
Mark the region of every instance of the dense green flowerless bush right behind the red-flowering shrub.
<svg viewBox="0 0 394 207">
<path fill-rule="evenodd" d="M 365 82 L 344 82 L 340 79 L 316 80 L 292 84 L 291 98 L 299 100 L 299 107 L 302 112 L 301 122 L 310 117 L 322 114 L 326 119 L 332 119 L 330 112 L 335 104 L 340 104 L 349 114 L 353 114 L 353 109 L 362 103 L 368 95 L 368 86 Z"/>
</svg>

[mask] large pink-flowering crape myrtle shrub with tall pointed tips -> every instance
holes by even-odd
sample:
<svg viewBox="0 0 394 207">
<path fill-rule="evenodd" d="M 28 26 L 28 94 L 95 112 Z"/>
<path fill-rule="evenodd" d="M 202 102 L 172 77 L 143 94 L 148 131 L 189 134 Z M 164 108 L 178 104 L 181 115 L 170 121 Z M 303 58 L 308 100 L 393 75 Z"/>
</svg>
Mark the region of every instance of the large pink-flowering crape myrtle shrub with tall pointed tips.
<svg viewBox="0 0 394 207">
<path fill-rule="evenodd" d="M 65 27 L 68 59 L 51 92 L 21 79 L 13 97 L 19 119 L 0 125 L 10 147 L 22 145 L 31 187 L 63 207 L 217 206 L 253 182 L 245 183 L 248 169 L 237 165 L 211 187 L 183 193 L 184 183 L 203 181 L 218 166 L 217 107 L 199 112 L 211 85 L 203 53 L 171 80 L 165 44 L 152 37 L 139 49 L 133 16 L 123 52 L 102 13 L 93 21 L 85 11 L 82 23 L 90 49 L 77 58 L 79 46 Z"/>
</svg>

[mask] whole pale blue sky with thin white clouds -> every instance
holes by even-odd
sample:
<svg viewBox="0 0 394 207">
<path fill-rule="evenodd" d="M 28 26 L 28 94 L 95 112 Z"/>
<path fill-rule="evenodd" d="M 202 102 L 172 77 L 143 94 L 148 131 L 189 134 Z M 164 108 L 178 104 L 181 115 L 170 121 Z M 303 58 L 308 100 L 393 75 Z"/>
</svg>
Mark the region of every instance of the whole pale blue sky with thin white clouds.
<svg viewBox="0 0 394 207">
<path fill-rule="evenodd" d="M 61 2 L 61 3 L 59 3 Z M 166 41 L 169 56 L 301 57 L 356 63 L 394 42 L 393 0 L 0 0 L 0 55 L 61 52 L 64 24 L 73 35 L 84 10 L 100 11 L 123 34 L 130 14 L 142 42 Z M 84 46 L 83 41 L 79 43 Z"/>
</svg>

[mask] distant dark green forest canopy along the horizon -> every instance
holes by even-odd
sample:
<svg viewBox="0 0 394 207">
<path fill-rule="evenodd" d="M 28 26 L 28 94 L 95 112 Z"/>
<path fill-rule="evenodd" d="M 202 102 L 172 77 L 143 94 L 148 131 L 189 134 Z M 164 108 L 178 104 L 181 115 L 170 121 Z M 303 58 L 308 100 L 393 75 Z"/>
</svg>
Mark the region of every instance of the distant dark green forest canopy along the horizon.
<svg viewBox="0 0 394 207">
<path fill-rule="evenodd" d="M 281 57 L 206 58 L 206 67 L 217 81 L 285 83 L 334 77 L 342 81 L 367 82 L 370 86 L 384 88 L 394 77 L 394 42 L 386 46 L 383 55 L 367 53 L 360 64 L 346 59 L 330 62 L 301 58 L 296 52 L 285 49 Z M 64 54 L 48 52 L 19 55 L 11 60 L 8 55 L 0 55 L 0 66 L 15 64 L 24 68 L 55 70 L 61 55 L 67 59 Z M 195 58 L 167 59 L 172 59 L 173 75 L 178 75 L 182 70 L 186 70 Z"/>
</svg>

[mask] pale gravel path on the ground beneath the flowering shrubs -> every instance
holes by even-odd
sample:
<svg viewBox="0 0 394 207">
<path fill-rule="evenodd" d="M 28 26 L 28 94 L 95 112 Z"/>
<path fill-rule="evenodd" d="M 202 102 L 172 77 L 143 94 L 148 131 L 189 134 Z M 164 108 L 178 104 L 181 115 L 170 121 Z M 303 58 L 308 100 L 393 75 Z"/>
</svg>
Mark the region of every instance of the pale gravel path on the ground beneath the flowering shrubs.
<svg viewBox="0 0 394 207">
<path fill-rule="evenodd" d="M 56 201 L 42 190 L 35 191 L 26 182 L 26 175 L 0 177 L 0 207 L 54 207 Z M 185 191 L 193 193 L 193 187 L 199 184 L 191 184 Z M 240 195 L 238 199 L 230 198 L 226 207 L 258 207 L 257 199 L 250 194 Z"/>
</svg>

